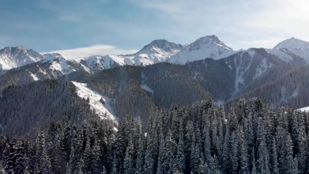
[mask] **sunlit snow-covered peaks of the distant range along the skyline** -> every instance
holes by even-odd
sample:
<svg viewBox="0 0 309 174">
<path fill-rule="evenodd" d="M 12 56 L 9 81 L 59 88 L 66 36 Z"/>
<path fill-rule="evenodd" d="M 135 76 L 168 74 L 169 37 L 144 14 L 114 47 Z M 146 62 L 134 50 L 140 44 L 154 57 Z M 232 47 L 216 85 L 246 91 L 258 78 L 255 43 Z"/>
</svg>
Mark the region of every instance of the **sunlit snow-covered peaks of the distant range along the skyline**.
<svg viewBox="0 0 309 174">
<path fill-rule="evenodd" d="M 240 52 L 243 50 L 240 50 Z M 285 62 L 308 63 L 309 62 L 309 43 L 295 38 L 284 40 L 272 49 L 266 49 L 267 52 L 276 55 Z M 51 65 L 51 69 L 59 71 L 62 74 L 69 74 L 74 71 L 68 62 L 81 64 L 82 68 L 95 73 L 103 69 L 113 68 L 122 65 L 152 65 L 160 62 L 169 62 L 174 64 L 186 64 L 187 62 L 212 58 L 214 60 L 228 57 L 236 52 L 225 45 L 217 36 L 205 36 L 197 39 L 193 43 L 183 46 L 167 40 L 154 40 L 145 45 L 140 51 L 127 55 L 94 55 L 84 59 L 74 61 L 66 59 L 58 53 L 44 54 L 24 47 L 6 47 L 0 50 L 0 74 L 6 71 L 21 67 L 23 65 L 48 60 L 56 60 L 59 65 Z M 58 59 L 56 59 L 58 58 Z M 61 61 L 60 61 L 60 60 Z M 59 62 L 59 61 L 60 62 Z M 51 63 L 53 64 L 53 63 Z M 71 64 L 71 63 L 69 63 Z"/>
</svg>

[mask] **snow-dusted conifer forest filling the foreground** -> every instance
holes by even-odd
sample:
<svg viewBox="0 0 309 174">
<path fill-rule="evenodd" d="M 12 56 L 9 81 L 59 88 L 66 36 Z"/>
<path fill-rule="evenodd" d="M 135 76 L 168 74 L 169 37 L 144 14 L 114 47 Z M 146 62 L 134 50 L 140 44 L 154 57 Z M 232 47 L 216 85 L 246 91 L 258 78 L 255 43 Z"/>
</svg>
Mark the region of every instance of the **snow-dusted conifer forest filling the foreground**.
<svg viewBox="0 0 309 174">
<path fill-rule="evenodd" d="M 173 105 L 147 125 L 128 115 L 80 126 L 50 122 L 0 138 L 2 173 L 308 173 L 309 114 L 260 99 L 228 112 L 211 101 Z"/>
</svg>

